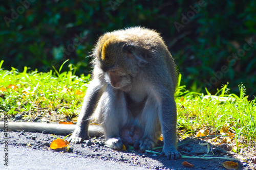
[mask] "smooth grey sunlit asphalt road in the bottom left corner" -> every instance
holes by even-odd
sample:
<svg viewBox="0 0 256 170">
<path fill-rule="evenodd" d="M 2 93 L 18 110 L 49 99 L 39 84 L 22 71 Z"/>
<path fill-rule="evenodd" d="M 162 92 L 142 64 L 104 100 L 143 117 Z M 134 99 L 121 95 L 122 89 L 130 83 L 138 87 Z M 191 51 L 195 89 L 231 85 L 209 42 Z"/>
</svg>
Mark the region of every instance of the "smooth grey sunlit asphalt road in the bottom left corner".
<svg viewBox="0 0 256 170">
<path fill-rule="evenodd" d="M 22 146 L 8 146 L 8 166 L 4 165 L 4 144 L 0 145 L 0 169 L 148 169 L 127 163 L 84 158 L 72 153 L 41 151 Z"/>
</svg>

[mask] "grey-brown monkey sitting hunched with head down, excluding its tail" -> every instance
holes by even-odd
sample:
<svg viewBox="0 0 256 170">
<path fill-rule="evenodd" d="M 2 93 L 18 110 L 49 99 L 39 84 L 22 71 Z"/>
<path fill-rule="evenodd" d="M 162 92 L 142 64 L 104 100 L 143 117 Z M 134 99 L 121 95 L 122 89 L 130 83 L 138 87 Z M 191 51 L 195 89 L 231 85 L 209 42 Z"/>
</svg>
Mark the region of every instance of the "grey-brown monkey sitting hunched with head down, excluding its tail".
<svg viewBox="0 0 256 170">
<path fill-rule="evenodd" d="M 180 158 L 174 99 L 177 70 L 160 34 L 142 27 L 107 32 L 91 57 L 93 78 L 69 141 L 89 139 L 88 126 L 96 118 L 105 144 L 114 150 L 130 144 L 143 153 L 163 134 L 161 156 Z"/>
</svg>

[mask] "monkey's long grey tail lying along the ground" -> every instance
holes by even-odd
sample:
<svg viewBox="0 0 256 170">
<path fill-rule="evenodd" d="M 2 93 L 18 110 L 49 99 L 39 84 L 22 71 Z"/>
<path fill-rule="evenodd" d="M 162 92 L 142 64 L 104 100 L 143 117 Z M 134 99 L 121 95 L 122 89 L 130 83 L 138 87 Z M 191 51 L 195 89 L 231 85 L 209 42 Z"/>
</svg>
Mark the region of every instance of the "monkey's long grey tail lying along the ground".
<svg viewBox="0 0 256 170">
<path fill-rule="evenodd" d="M 28 131 L 28 132 L 42 132 L 68 135 L 75 130 L 75 125 L 62 125 L 62 124 L 46 124 L 46 123 L 31 123 L 31 122 L 0 122 L 0 129 L 5 129 L 8 131 Z M 89 126 L 90 136 L 100 136 L 103 134 L 103 129 L 97 125 Z"/>
</svg>

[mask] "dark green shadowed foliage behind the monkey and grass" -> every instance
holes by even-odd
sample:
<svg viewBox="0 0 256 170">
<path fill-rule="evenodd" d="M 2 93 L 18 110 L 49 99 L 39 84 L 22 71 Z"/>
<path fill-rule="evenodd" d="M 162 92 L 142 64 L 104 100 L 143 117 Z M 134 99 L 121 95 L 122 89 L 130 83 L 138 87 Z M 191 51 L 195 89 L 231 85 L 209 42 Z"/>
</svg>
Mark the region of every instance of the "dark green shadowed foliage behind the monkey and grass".
<svg viewBox="0 0 256 170">
<path fill-rule="evenodd" d="M 87 73 L 91 68 L 86 57 L 100 35 L 143 26 L 162 33 L 182 82 L 191 90 L 212 90 L 229 82 L 238 91 L 242 82 L 253 95 L 255 7 L 256 2 L 249 0 L 5 1 L 0 6 L 1 59 L 5 69 L 12 66 L 19 71 L 24 66 L 49 71 L 51 65 L 58 68 L 70 59 L 77 74 Z"/>
</svg>

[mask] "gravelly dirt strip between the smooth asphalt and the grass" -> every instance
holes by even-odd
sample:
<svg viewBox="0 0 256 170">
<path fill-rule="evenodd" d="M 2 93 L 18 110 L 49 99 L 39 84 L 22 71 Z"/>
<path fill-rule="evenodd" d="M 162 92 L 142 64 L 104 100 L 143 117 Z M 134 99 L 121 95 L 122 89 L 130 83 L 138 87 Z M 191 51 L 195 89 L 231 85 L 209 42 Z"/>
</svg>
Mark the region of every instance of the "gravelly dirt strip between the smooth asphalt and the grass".
<svg viewBox="0 0 256 170">
<path fill-rule="evenodd" d="M 4 130 L 0 130 L 1 137 L 4 136 Z M 53 151 L 50 150 L 50 144 L 55 139 L 50 134 L 43 133 L 32 133 L 32 132 L 8 132 L 9 145 L 23 146 L 25 148 L 32 148 L 35 150 L 49 150 L 49 152 L 63 152 L 64 154 L 69 154 L 65 150 Z M 63 138 L 63 136 L 56 135 L 57 137 Z M 186 142 L 187 141 L 187 142 Z M 194 139 L 188 140 L 184 139 L 181 141 L 185 143 L 179 147 L 179 152 L 182 155 L 205 155 L 207 153 L 207 144 L 200 145 L 199 143 L 204 143 L 202 140 Z M 0 140 L 0 144 L 4 144 L 3 140 Z M 163 143 L 160 142 L 159 146 Z M 113 151 L 104 144 L 104 138 L 92 138 L 90 140 L 84 141 L 82 144 L 71 144 L 68 152 L 74 153 L 82 156 L 84 159 L 90 157 L 94 159 L 101 159 L 106 162 L 108 161 L 120 161 L 131 165 L 137 165 L 150 168 L 150 169 L 226 169 L 222 163 L 225 161 L 230 161 L 234 158 L 232 153 L 224 150 L 225 147 L 215 147 L 208 145 L 212 148 L 212 152 L 215 157 L 224 157 L 227 159 L 196 159 L 196 158 L 181 158 L 178 160 L 167 160 L 166 157 L 160 157 L 158 154 L 154 153 L 138 153 L 134 150 L 127 149 L 126 151 Z M 224 149 L 223 149 L 224 148 Z M 209 154 L 212 154 L 210 152 Z M 51 158 L 49 158 L 51 159 Z M 183 166 L 182 163 L 187 161 L 194 164 L 193 167 Z M 238 163 L 238 169 L 256 169 L 256 164 L 253 164 L 251 159 L 245 160 L 232 160 Z"/>
</svg>

